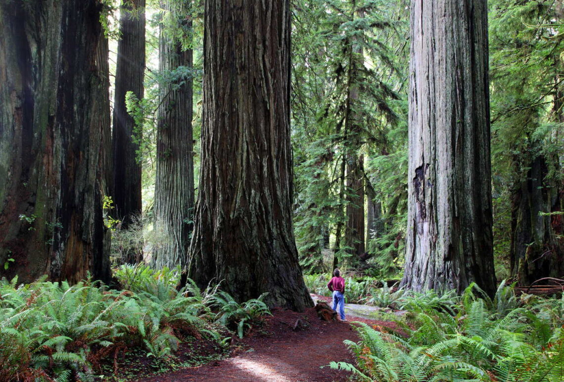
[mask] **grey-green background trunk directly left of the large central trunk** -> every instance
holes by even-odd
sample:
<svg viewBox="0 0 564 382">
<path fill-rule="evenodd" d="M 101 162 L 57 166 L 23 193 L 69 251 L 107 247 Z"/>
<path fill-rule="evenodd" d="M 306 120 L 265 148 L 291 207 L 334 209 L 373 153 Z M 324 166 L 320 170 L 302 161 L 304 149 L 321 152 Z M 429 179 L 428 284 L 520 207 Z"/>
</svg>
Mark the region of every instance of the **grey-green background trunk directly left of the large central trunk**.
<svg viewBox="0 0 564 382">
<path fill-rule="evenodd" d="M 171 21 L 191 33 L 190 0 L 175 5 L 165 3 Z M 194 167 L 192 145 L 192 50 L 183 49 L 178 36 L 164 33 L 159 38 L 159 69 L 165 77 L 178 73 L 161 85 L 158 108 L 157 174 L 155 181 L 155 226 L 160 243 L 153 252 L 152 265 L 186 267 L 194 206 Z M 182 68 L 180 68 L 182 69 Z"/>
</svg>

